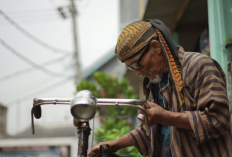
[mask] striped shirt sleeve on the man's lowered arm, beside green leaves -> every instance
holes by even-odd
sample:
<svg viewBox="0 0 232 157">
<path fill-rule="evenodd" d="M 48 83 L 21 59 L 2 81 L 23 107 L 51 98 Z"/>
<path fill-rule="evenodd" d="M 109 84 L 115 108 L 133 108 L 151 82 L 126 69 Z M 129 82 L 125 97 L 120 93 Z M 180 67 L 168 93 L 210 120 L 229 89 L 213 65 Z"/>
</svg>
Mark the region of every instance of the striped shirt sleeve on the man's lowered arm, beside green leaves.
<svg viewBox="0 0 232 157">
<path fill-rule="evenodd" d="M 141 155 L 147 156 L 150 139 L 148 136 L 146 136 L 143 125 L 141 124 L 137 126 L 137 128 L 135 128 L 134 130 L 132 130 L 127 134 L 130 137 L 130 139 L 133 141 L 133 145 L 137 148 L 137 150 L 141 153 Z"/>
</svg>

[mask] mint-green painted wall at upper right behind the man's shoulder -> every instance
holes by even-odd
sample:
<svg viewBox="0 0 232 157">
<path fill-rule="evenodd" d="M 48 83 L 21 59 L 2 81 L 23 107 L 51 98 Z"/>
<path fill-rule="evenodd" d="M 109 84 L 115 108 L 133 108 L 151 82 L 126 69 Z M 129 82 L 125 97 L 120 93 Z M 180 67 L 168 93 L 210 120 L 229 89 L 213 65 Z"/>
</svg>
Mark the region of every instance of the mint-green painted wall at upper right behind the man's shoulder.
<svg viewBox="0 0 232 157">
<path fill-rule="evenodd" d="M 218 61 L 227 75 L 228 54 L 225 39 L 232 35 L 231 0 L 208 0 L 210 56 Z"/>
</svg>

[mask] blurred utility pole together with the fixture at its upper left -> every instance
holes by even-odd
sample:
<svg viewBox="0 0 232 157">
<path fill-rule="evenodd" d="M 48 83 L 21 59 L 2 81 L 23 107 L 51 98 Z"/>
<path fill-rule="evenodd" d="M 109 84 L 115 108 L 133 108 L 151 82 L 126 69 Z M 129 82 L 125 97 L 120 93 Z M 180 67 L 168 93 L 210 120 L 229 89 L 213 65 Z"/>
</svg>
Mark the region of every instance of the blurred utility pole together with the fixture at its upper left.
<svg viewBox="0 0 232 157">
<path fill-rule="evenodd" d="M 66 19 L 67 15 L 65 14 L 63 7 L 58 7 L 57 10 L 59 11 L 62 18 Z M 70 0 L 69 11 L 72 16 L 72 27 L 73 27 L 73 45 L 74 45 L 74 60 L 75 60 L 75 83 L 78 84 L 81 82 L 81 67 L 78 55 L 78 41 L 77 41 L 77 11 L 74 0 Z"/>
</svg>

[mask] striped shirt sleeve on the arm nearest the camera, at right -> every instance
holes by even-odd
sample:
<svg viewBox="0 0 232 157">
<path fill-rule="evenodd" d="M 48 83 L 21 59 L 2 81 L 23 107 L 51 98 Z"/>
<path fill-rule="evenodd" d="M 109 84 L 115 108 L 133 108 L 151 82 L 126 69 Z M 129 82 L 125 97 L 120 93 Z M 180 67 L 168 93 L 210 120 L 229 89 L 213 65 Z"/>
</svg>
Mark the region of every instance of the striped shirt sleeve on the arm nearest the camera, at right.
<svg viewBox="0 0 232 157">
<path fill-rule="evenodd" d="M 186 88 L 193 96 L 186 111 L 196 144 L 217 138 L 230 127 L 229 102 L 225 74 L 219 64 L 203 55 L 195 55 L 186 65 Z M 186 103 L 186 102 L 185 102 Z"/>
</svg>

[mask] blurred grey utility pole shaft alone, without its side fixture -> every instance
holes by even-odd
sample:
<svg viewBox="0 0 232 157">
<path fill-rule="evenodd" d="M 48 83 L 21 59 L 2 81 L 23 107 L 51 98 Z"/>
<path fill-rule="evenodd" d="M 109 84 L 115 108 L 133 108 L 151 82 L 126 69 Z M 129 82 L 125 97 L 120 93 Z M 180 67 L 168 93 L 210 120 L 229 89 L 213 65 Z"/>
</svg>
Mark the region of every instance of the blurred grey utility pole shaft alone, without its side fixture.
<svg viewBox="0 0 232 157">
<path fill-rule="evenodd" d="M 74 41 L 74 57 L 75 57 L 75 61 L 76 61 L 76 83 L 80 83 L 81 82 L 81 68 L 80 68 L 80 62 L 79 62 L 79 55 L 78 55 L 78 42 L 77 42 L 77 23 L 76 23 L 76 7 L 75 7 L 75 3 L 74 0 L 70 0 L 71 1 L 71 6 L 70 6 L 70 11 L 72 14 L 72 24 L 73 24 L 73 41 Z"/>
</svg>

